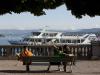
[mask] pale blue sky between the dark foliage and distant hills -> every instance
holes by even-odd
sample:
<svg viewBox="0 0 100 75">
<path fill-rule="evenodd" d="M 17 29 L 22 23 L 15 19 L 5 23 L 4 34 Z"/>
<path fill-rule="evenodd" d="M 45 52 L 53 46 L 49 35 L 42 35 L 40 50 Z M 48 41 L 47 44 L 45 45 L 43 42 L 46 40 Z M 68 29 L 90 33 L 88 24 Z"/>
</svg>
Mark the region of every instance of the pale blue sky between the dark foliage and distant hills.
<svg viewBox="0 0 100 75">
<path fill-rule="evenodd" d="M 45 10 L 46 15 L 34 16 L 29 12 L 5 14 L 0 16 L 0 29 L 60 29 L 77 30 L 100 28 L 100 16 L 83 16 L 78 19 L 67 11 L 65 5 L 53 10 Z"/>
</svg>

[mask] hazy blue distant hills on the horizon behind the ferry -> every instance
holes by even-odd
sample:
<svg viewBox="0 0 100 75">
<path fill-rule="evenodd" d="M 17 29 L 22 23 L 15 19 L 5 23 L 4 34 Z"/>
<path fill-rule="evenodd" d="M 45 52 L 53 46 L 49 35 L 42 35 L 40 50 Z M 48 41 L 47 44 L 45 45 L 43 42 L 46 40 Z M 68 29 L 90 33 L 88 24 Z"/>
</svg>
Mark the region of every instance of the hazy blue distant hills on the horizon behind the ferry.
<svg viewBox="0 0 100 75">
<path fill-rule="evenodd" d="M 32 30 L 17 30 L 17 29 L 1 29 L 0 30 L 0 34 L 3 34 L 3 35 L 29 35 L 31 34 L 31 32 L 34 32 L 34 31 L 41 31 L 41 29 L 32 29 Z M 78 34 L 81 34 L 81 33 L 98 33 L 100 32 L 100 28 L 91 28 L 91 29 L 80 29 L 80 30 L 52 30 L 50 29 L 49 31 L 60 31 L 60 32 L 67 32 L 67 33 L 78 33 Z"/>
</svg>

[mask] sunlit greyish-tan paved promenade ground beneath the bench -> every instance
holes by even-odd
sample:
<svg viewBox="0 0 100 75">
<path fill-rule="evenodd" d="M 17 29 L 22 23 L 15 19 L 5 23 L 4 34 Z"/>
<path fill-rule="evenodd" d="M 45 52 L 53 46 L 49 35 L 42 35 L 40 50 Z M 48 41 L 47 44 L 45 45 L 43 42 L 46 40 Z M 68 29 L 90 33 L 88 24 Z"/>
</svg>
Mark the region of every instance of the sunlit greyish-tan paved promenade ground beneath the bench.
<svg viewBox="0 0 100 75">
<path fill-rule="evenodd" d="M 0 60 L 0 75 L 100 75 L 100 61 L 77 61 L 72 73 L 56 71 L 57 66 L 52 66 L 50 72 L 47 72 L 47 66 L 43 65 L 31 66 L 30 69 L 27 73 L 25 66 L 19 61 Z"/>
</svg>

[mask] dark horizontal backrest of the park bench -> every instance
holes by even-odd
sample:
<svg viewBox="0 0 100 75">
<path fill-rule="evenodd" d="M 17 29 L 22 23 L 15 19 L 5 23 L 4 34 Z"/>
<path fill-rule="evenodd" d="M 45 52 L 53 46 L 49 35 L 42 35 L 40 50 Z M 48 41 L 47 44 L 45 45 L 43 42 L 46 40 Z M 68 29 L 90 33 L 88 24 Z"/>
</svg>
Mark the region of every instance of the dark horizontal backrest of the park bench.
<svg viewBox="0 0 100 75">
<path fill-rule="evenodd" d="M 66 56 L 60 58 L 59 56 L 32 56 L 32 57 L 23 57 L 23 62 L 64 62 L 64 61 L 73 61 L 74 56 Z"/>
</svg>

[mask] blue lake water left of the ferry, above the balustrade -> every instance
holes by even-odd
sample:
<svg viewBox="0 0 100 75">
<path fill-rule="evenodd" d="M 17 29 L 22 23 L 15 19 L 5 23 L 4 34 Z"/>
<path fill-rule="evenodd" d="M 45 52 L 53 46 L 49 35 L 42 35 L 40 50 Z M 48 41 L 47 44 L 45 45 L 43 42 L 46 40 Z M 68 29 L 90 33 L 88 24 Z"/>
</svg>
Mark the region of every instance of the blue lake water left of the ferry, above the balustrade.
<svg viewBox="0 0 100 75">
<path fill-rule="evenodd" d="M 8 40 L 21 40 L 22 37 L 30 35 L 32 30 L 0 30 L 0 34 L 5 37 L 0 37 L 0 45 L 10 45 Z"/>
</svg>

